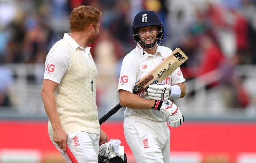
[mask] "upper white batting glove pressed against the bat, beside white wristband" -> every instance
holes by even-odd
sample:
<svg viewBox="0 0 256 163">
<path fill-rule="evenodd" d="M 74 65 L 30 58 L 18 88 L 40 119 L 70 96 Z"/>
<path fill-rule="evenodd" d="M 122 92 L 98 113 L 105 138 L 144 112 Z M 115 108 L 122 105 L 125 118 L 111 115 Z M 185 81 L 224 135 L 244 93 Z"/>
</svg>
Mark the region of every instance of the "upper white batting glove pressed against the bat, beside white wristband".
<svg viewBox="0 0 256 163">
<path fill-rule="evenodd" d="M 169 99 L 171 85 L 163 83 L 151 84 L 148 87 L 148 96 L 152 100 L 166 101 Z"/>
</svg>

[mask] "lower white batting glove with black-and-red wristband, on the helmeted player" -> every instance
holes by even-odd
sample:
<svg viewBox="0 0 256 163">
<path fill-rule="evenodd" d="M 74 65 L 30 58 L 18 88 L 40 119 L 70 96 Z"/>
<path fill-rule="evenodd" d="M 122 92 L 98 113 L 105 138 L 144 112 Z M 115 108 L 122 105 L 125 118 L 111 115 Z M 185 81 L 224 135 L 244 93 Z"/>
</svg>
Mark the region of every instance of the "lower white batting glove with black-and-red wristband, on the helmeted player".
<svg viewBox="0 0 256 163">
<path fill-rule="evenodd" d="M 166 100 L 165 102 L 156 100 L 152 109 L 159 110 L 167 115 L 168 124 L 171 127 L 178 127 L 181 123 L 184 123 L 184 116 L 181 114 L 179 107 L 170 100 Z"/>
</svg>

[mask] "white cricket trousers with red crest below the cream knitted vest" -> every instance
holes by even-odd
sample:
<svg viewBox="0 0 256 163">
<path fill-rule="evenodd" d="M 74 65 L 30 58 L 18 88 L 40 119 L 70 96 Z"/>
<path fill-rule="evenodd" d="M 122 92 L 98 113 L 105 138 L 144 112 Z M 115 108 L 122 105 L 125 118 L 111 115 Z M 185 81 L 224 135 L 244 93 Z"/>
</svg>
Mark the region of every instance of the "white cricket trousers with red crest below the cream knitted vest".
<svg viewBox="0 0 256 163">
<path fill-rule="evenodd" d="M 68 134 L 68 147 L 79 163 L 98 163 L 100 135 L 87 132 L 73 132 Z M 52 141 L 60 151 L 66 163 L 72 163 L 67 153 Z"/>
</svg>

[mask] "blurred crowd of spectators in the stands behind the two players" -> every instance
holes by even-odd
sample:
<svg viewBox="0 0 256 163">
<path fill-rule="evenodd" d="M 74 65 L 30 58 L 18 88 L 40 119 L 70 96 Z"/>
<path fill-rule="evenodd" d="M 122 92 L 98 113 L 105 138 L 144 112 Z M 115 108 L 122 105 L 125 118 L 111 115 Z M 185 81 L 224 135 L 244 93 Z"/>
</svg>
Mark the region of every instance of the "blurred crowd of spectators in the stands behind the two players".
<svg viewBox="0 0 256 163">
<path fill-rule="evenodd" d="M 7 81 L 2 80 L 8 72 L 3 63 L 44 63 L 52 45 L 69 33 L 69 15 L 80 5 L 102 12 L 91 53 L 104 67 L 98 71 L 116 74 L 111 79 L 99 76 L 99 98 L 109 92 L 106 85 L 117 87 L 122 59 L 135 48 L 133 18 L 142 10 L 153 10 L 160 17 L 161 45 L 179 47 L 189 57 L 181 67 L 186 80 L 219 69 L 221 79 L 209 88 L 232 85 L 231 94 L 246 95 L 242 79 L 232 72 L 236 65 L 256 64 L 256 0 L 0 0 L 0 83 Z M 8 105 L 1 100 L 7 87 L 0 88 L 0 105 Z M 243 99 L 236 106 L 246 107 L 248 98 Z"/>
</svg>

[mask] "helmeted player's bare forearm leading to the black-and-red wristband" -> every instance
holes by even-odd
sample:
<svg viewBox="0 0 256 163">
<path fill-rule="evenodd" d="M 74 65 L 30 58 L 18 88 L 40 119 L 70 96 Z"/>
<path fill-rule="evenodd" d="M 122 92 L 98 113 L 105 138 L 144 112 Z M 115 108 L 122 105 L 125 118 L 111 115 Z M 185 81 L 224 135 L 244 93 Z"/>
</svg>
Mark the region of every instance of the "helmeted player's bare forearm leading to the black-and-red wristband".
<svg viewBox="0 0 256 163">
<path fill-rule="evenodd" d="M 119 98 L 122 107 L 133 109 L 151 109 L 155 103 L 155 100 L 144 99 L 128 91 L 124 92 L 124 90 L 120 90 Z"/>
</svg>

